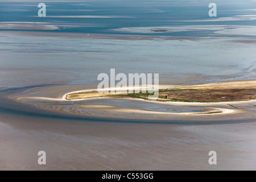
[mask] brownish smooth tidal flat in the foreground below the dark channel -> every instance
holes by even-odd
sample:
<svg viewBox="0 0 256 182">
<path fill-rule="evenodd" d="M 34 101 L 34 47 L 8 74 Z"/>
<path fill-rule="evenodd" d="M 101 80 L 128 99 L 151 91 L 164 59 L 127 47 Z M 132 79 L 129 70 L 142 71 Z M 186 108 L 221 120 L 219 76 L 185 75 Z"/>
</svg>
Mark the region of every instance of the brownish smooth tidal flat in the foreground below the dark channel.
<svg viewBox="0 0 256 182">
<path fill-rule="evenodd" d="M 255 170 L 255 123 L 158 125 L 0 115 L 1 170 Z M 38 151 L 47 154 L 39 166 Z M 208 163 L 217 152 L 217 165 Z"/>
</svg>

